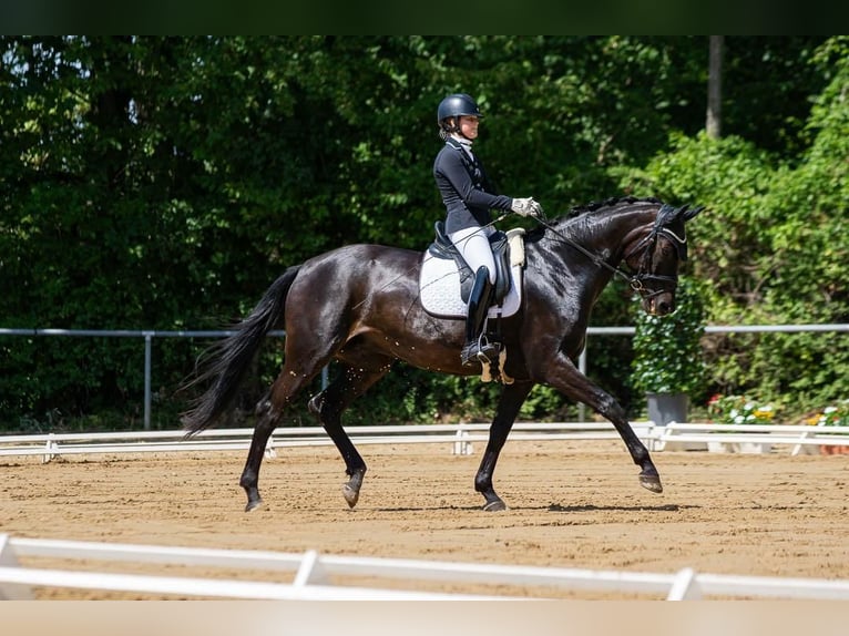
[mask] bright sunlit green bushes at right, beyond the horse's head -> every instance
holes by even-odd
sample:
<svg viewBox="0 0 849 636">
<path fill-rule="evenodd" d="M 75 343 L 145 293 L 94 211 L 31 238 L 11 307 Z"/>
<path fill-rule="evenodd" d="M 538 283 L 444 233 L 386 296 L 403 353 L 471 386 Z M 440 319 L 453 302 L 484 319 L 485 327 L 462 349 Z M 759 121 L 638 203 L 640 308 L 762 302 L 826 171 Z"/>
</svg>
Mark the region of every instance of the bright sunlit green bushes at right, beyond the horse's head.
<svg viewBox="0 0 849 636">
<path fill-rule="evenodd" d="M 692 227 L 691 274 L 704 281 L 709 324 L 849 320 L 846 52 L 847 39 L 835 38 L 814 57 L 829 82 L 814 100 L 802 154 L 782 158 L 737 136 L 675 135 L 673 153 L 627 176 L 656 186 L 662 197 L 707 205 Z M 705 350 L 709 393 L 791 396 L 802 412 L 849 391 L 842 337 L 709 335 Z"/>
</svg>

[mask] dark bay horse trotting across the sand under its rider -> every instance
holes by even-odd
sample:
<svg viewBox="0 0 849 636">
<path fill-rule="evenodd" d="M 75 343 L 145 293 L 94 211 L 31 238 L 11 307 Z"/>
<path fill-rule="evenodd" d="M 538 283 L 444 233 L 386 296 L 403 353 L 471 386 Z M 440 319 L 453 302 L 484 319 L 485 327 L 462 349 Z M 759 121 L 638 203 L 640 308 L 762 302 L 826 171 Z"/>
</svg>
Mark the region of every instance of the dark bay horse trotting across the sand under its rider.
<svg viewBox="0 0 849 636">
<path fill-rule="evenodd" d="M 519 410 L 534 384 L 545 384 L 581 401 L 610 420 L 634 463 L 640 483 L 662 492 L 648 450 L 634 433 L 624 409 L 575 366 L 590 311 L 613 276 L 623 276 L 654 315 L 675 309 L 678 263 L 686 258 L 685 222 L 702 211 L 673 207 L 654 198 L 621 198 L 590 204 L 525 236 L 523 300 L 501 320 L 507 359 L 504 383 L 487 450 L 474 478 L 484 510 L 507 506 L 492 475 Z M 273 329 L 285 329 L 285 361 L 267 396 L 256 407 L 247 462 L 239 484 L 246 510 L 262 504 L 259 465 L 265 445 L 286 407 L 331 360 L 335 379 L 309 400 L 345 460 L 348 505 L 359 499 L 366 463 L 341 425 L 341 414 L 358 396 L 382 378 L 396 360 L 421 369 L 478 375 L 460 365 L 464 320 L 437 318 L 419 300 L 422 254 L 380 245 L 348 245 L 286 269 L 234 334 L 215 343 L 207 368 L 194 382 L 209 382 L 183 417 L 187 437 L 225 414 L 250 362 Z M 621 269 L 624 264 L 626 269 Z"/>
</svg>

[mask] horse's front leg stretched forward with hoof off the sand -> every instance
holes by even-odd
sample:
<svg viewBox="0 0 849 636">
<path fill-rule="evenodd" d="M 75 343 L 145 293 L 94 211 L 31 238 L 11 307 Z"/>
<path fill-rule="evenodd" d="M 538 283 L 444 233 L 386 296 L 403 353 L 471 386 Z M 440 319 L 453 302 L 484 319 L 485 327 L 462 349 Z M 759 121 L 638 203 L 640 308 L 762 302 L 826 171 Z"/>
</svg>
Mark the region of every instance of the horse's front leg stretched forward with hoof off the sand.
<svg viewBox="0 0 849 636">
<path fill-rule="evenodd" d="M 600 416 L 608 419 L 631 453 L 634 463 L 640 466 L 640 485 L 652 492 L 663 492 L 661 475 L 652 461 L 648 449 L 645 448 L 634 429 L 628 423 L 625 410 L 602 388 L 590 381 L 567 357 L 560 355 L 556 363 L 545 367 L 546 383 L 558 389 L 566 397 L 581 401 Z"/>
</svg>

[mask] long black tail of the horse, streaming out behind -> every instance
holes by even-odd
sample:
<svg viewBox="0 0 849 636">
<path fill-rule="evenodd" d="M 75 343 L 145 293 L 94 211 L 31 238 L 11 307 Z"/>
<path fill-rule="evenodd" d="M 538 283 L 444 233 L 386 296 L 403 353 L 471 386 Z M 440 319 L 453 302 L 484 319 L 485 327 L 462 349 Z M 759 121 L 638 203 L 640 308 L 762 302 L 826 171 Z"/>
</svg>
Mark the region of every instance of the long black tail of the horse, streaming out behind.
<svg viewBox="0 0 849 636">
<path fill-rule="evenodd" d="M 186 437 L 214 425 L 236 399 L 239 384 L 266 335 L 283 322 L 286 296 L 299 270 L 299 265 L 286 269 L 250 315 L 235 327 L 235 332 L 209 348 L 208 367 L 190 386 L 207 380 L 213 383 L 193 408 L 183 413 Z"/>
</svg>

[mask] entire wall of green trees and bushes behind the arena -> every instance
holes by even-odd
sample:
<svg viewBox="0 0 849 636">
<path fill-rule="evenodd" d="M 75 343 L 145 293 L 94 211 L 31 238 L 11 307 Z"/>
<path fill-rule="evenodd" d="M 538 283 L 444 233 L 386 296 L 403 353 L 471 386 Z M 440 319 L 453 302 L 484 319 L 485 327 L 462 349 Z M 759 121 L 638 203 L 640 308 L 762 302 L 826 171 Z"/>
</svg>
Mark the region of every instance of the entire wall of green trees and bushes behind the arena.
<svg viewBox="0 0 849 636">
<path fill-rule="evenodd" d="M 726 43 L 726 136 L 707 140 L 705 37 L 0 37 L 0 325 L 226 327 L 320 252 L 423 248 L 442 216 L 433 111 L 458 90 L 487 114 L 475 147 L 500 191 L 550 215 L 627 193 L 707 205 L 687 274 L 708 321 L 847 321 L 847 39 Z M 593 324 L 628 315 L 612 286 Z M 849 348 L 826 340 L 707 336 L 706 389 L 837 399 Z M 589 347 L 627 403 L 631 342 Z M 156 341 L 163 425 L 198 348 Z M 124 339 L 0 337 L 0 427 L 135 422 L 141 357 Z M 491 413 L 495 388 L 424 376 L 391 373 L 351 418 Z M 540 388 L 525 409 L 574 404 Z"/>
</svg>

